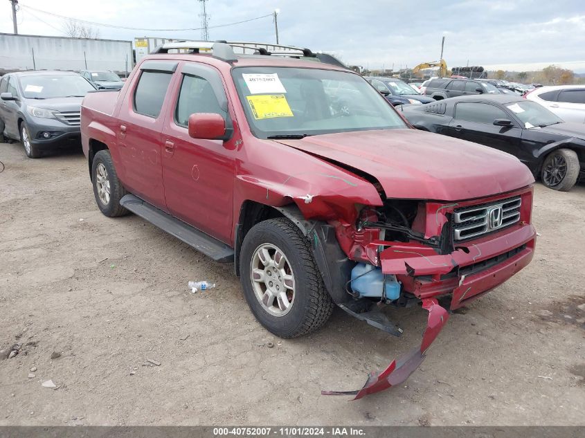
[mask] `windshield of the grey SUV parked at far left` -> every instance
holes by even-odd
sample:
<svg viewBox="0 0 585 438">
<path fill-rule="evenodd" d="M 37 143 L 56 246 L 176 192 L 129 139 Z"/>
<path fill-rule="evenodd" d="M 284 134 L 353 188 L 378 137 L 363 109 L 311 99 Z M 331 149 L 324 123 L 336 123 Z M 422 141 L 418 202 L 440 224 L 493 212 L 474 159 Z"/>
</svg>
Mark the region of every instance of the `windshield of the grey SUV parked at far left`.
<svg viewBox="0 0 585 438">
<path fill-rule="evenodd" d="M 26 75 L 19 77 L 26 99 L 50 99 L 79 96 L 95 90 L 80 75 Z"/>
</svg>

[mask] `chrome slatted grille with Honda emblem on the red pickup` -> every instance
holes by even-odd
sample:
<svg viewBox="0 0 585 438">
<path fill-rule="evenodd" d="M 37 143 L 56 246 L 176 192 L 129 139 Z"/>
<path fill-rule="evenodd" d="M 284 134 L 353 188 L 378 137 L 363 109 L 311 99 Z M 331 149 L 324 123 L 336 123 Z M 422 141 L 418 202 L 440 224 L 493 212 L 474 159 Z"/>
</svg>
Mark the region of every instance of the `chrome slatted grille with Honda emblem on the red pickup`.
<svg viewBox="0 0 585 438">
<path fill-rule="evenodd" d="M 494 203 L 456 208 L 453 210 L 455 241 L 478 237 L 518 222 L 521 204 L 521 198 L 514 197 Z"/>
</svg>

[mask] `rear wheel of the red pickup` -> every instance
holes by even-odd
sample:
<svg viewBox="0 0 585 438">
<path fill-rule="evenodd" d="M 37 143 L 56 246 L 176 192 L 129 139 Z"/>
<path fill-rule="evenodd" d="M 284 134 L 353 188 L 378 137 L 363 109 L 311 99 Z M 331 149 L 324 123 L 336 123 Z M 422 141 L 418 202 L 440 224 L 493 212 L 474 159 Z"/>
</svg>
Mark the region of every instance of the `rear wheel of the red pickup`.
<svg viewBox="0 0 585 438">
<path fill-rule="evenodd" d="M 120 183 L 118 174 L 111 161 L 109 151 L 99 151 L 91 163 L 91 182 L 93 195 L 100 211 L 107 217 L 124 216 L 128 214 L 120 199 L 128 192 Z"/>
</svg>

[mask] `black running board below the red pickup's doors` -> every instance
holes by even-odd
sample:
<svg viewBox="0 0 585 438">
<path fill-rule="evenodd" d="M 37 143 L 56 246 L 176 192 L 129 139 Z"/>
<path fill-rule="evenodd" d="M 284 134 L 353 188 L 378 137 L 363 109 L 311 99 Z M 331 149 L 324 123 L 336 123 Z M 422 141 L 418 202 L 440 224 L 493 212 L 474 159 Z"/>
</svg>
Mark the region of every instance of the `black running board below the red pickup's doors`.
<svg viewBox="0 0 585 438">
<path fill-rule="evenodd" d="M 127 194 L 120 199 L 120 205 L 161 228 L 161 230 L 184 241 L 196 250 L 201 251 L 201 253 L 211 257 L 216 262 L 233 262 L 233 248 L 180 219 L 172 217 L 152 204 L 135 197 L 134 194 Z"/>
</svg>

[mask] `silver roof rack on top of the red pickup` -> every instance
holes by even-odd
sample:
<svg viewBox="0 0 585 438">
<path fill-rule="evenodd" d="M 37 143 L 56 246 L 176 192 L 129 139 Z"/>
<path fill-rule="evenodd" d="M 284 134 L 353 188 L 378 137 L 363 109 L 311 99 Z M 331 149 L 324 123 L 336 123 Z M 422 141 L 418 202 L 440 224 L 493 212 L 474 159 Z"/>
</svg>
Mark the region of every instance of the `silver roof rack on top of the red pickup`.
<svg viewBox="0 0 585 438">
<path fill-rule="evenodd" d="M 170 53 L 170 51 L 177 51 L 177 53 L 208 54 L 227 62 L 236 61 L 237 55 L 316 57 L 316 55 L 309 48 L 283 46 L 282 44 L 269 43 L 227 42 L 224 40 L 219 40 L 216 42 L 181 41 L 166 43 L 155 48 L 154 51 L 150 53 L 151 55 L 154 55 L 156 53 Z"/>
</svg>

